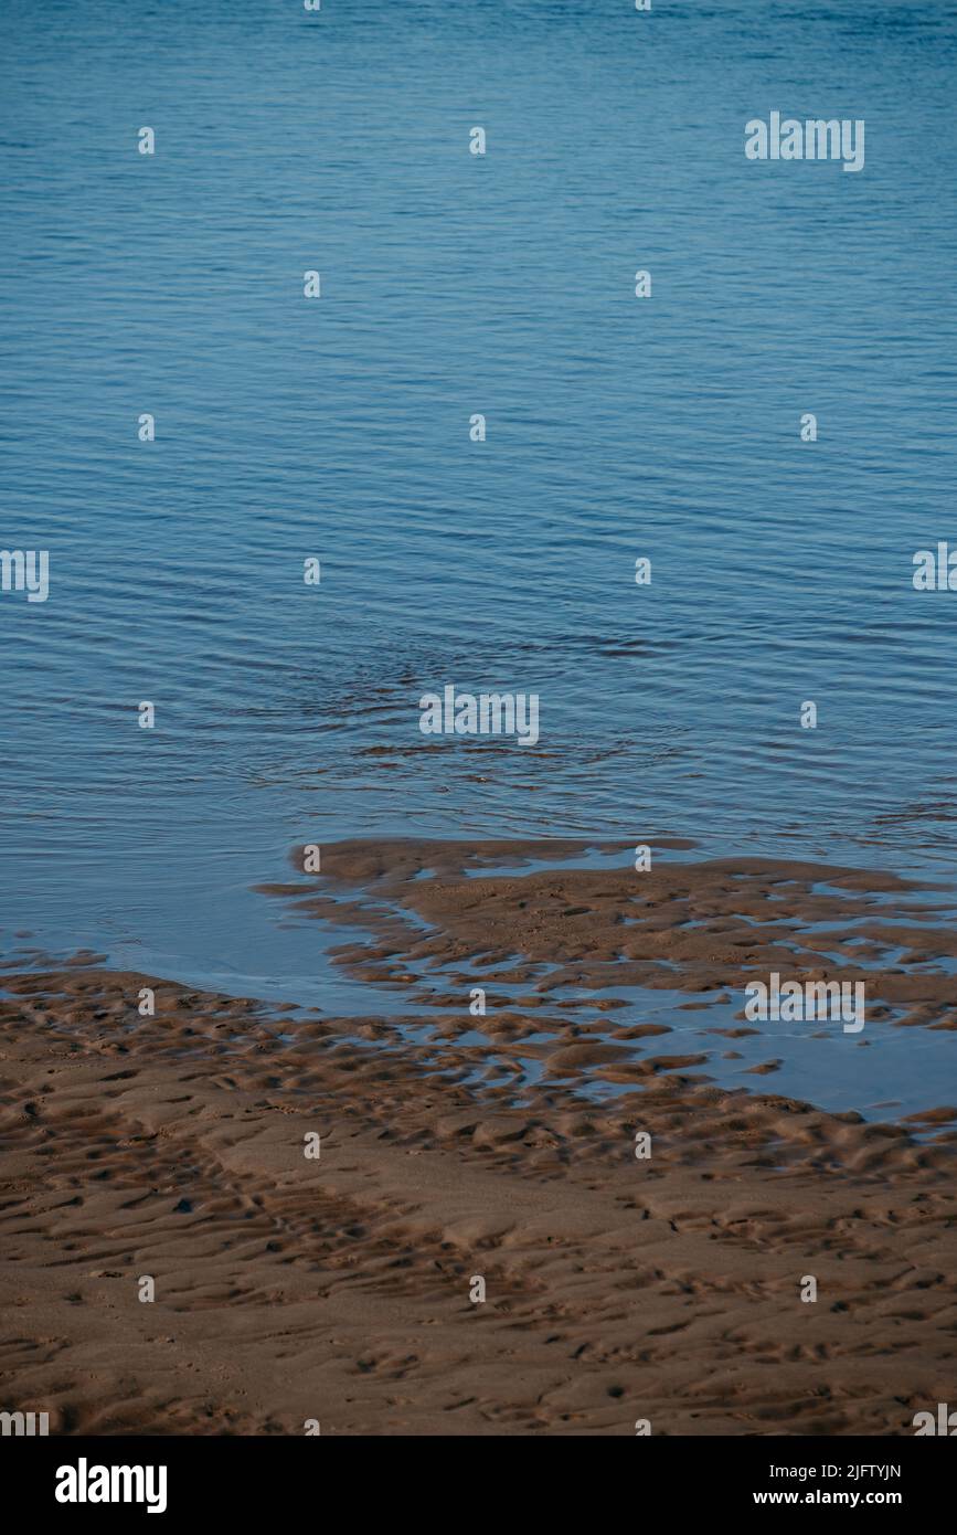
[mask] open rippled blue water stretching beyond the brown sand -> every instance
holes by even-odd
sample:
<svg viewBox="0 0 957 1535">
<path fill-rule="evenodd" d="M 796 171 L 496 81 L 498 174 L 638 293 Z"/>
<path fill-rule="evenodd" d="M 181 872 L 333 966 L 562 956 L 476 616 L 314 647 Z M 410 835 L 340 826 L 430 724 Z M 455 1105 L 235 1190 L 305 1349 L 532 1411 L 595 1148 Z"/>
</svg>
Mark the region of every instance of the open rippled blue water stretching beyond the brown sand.
<svg viewBox="0 0 957 1535">
<path fill-rule="evenodd" d="M 0 14 L 6 946 L 288 975 L 248 886 L 304 838 L 951 878 L 952 3 Z M 748 163 L 771 109 L 863 172 Z M 540 748 L 425 738 L 445 683 Z"/>
</svg>

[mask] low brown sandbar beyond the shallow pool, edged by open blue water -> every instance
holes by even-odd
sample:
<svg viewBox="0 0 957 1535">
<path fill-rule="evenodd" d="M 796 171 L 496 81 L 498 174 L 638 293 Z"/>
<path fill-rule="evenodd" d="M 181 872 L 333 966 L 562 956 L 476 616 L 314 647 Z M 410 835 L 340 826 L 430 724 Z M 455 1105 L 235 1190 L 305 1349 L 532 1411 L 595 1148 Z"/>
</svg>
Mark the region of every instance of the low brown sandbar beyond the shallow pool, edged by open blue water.
<svg viewBox="0 0 957 1535">
<path fill-rule="evenodd" d="M 782 979 L 863 979 L 870 1018 L 880 1016 L 873 1004 L 883 1002 L 902 1012 L 899 1022 L 957 1028 L 954 978 L 916 969 L 957 959 L 957 932 L 917 926 L 929 923 L 942 901 L 914 881 L 768 858 L 656 863 L 644 873 L 475 873 L 523 857 L 541 860 L 544 850 L 561 857 L 581 852 L 581 844 L 339 843 L 322 850 L 321 876 L 259 889 L 290 898 L 296 910 L 376 935 L 376 944 L 340 953 L 363 979 L 402 981 L 417 961 L 442 964 L 448 979 L 449 966 L 479 956 L 491 976 L 509 981 L 554 966 L 548 979 L 535 981 L 540 995 L 569 984 L 742 992 L 748 979 L 767 981 L 776 970 Z M 301 849 L 293 863 L 302 867 Z M 896 921 L 888 896 L 900 903 Z M 426 936 L 409 915 L 429 924 Z M 819 930 L 808 933 L 808 924 Z M 885 964 L 899 949 L 903 955 Z M 528 967 L 495 972 L 517 953 Z M 465 972 L 454 978 L 468 984 Z M 460 1005 L 460 990 L 449 996 Z"/>
</svg>

